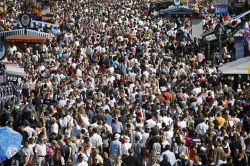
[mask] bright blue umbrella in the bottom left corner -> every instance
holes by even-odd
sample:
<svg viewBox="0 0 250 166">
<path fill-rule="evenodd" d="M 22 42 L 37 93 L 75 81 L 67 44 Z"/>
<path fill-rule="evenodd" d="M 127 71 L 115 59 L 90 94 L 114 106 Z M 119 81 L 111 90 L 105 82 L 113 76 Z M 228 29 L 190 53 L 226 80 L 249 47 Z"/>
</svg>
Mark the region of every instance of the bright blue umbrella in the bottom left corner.
<svg viewBox="0 0 250 166">
<path fill-rule="evenodd" d="M 22 135 L 5 126 L 0 127 L 0 161 L 13 157 L 20 149 Z"/>
</svg>

